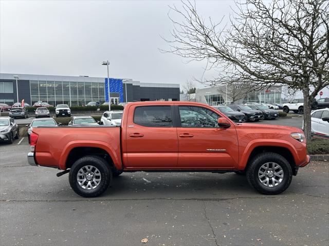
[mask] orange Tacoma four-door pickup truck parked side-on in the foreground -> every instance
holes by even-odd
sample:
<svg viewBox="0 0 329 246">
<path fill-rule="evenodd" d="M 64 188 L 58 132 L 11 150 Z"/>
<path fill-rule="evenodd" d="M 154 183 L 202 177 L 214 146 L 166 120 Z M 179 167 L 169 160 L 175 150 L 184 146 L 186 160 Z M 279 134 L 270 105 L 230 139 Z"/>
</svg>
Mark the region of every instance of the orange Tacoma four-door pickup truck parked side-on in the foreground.
<svg viewBox="0 0 329 246">
<path fill-rule="evenodd" d="M 32 166 L 69 172 L 84 197 L 122 172 L 235 172 L 264 194 L 279 194 L 309 162 L 300 129 L 235 124 L 208 105 L 149 101 L 126 105 L 121 126 L 40 127 L 30 135 Z"/>
</svg>

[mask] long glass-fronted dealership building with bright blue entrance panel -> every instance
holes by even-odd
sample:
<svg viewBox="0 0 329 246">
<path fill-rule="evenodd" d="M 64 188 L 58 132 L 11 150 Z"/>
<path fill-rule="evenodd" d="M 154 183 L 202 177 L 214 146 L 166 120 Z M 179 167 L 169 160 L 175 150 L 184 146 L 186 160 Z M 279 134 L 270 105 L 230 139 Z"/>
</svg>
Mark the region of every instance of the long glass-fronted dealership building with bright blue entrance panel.
<svg viewBox="0 0 329 246">
<path fill-rule="evenodd" d="M 107 86 L 104 77 L 0 73 L 0 103 L 12 105 L 24 99 L 30 105 L 37 101 L 53 106 L 84 106 L 89 101 L 102 104 L 108 102 Z M 113 104 L 177 101 L 180 93 L 179 84 L 141 83 L 124 78 L 109 78 L 109 91 Z"/>
</svg>

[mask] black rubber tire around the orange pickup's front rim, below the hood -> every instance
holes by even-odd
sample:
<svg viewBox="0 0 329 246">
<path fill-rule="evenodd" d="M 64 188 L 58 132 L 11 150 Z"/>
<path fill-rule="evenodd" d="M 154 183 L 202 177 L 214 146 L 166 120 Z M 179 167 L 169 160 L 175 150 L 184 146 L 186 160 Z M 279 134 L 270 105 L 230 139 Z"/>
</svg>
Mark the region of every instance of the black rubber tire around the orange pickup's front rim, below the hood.
<svg viewBox="0 0 329 246">
<path fill-rule="evenodd" d="M 283 170 L 282 181 L 275 187 L 263 185 L 258 177 L 258 171 L 266 162 L 276 162 Z M 291 179 L 293 179 L 293 171 L 289 162 L 282 155 L 272 152 L 264 152 L 253 157 L 249 162 L 246 174 L 249 185 L 258 192 L 266 195 L 276 195 L 284 192 L 289 187 Z"/>
</svg>

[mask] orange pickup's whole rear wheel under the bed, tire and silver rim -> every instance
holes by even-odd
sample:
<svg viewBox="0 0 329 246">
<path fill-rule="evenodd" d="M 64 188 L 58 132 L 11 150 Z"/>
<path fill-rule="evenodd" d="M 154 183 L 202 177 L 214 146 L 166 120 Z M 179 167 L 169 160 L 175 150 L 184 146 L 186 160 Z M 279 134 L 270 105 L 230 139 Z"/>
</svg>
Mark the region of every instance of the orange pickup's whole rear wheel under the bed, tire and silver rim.
<svg viewBox="0 0 329 246">
<path fill-rule="evenodd" d="M 96 197 L 112 182 L 112 170 L 103 158 L 84 156 L 72 165 L 68 179 L 78 195 Z"/>
</svg>

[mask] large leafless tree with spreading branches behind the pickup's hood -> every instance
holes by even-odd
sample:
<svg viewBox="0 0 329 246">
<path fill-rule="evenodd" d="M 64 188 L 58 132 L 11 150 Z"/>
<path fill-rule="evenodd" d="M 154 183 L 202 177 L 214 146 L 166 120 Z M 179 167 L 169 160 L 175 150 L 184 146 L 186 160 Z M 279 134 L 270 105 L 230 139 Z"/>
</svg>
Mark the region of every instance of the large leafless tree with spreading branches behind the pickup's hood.
<svg viewBox="0 0 329 246">
<path fill-rule="evenodd" d="M 221 22 L 202 18 L 195 3 L 182 2 L 181 9 L 170 7 L 182 20 L 174 20 L 169 12 L 174 30 L 166 52 L 207 60 L 211 68 L 224 71 L 206 81 L 212 85 L 276 84 L 302 90 L 304 131 L 309 140 L 312 100 L 329 86 L 329 1 L 246 0 L 236 6 L 228 29 L 220 29 Z"/>
</svg>

